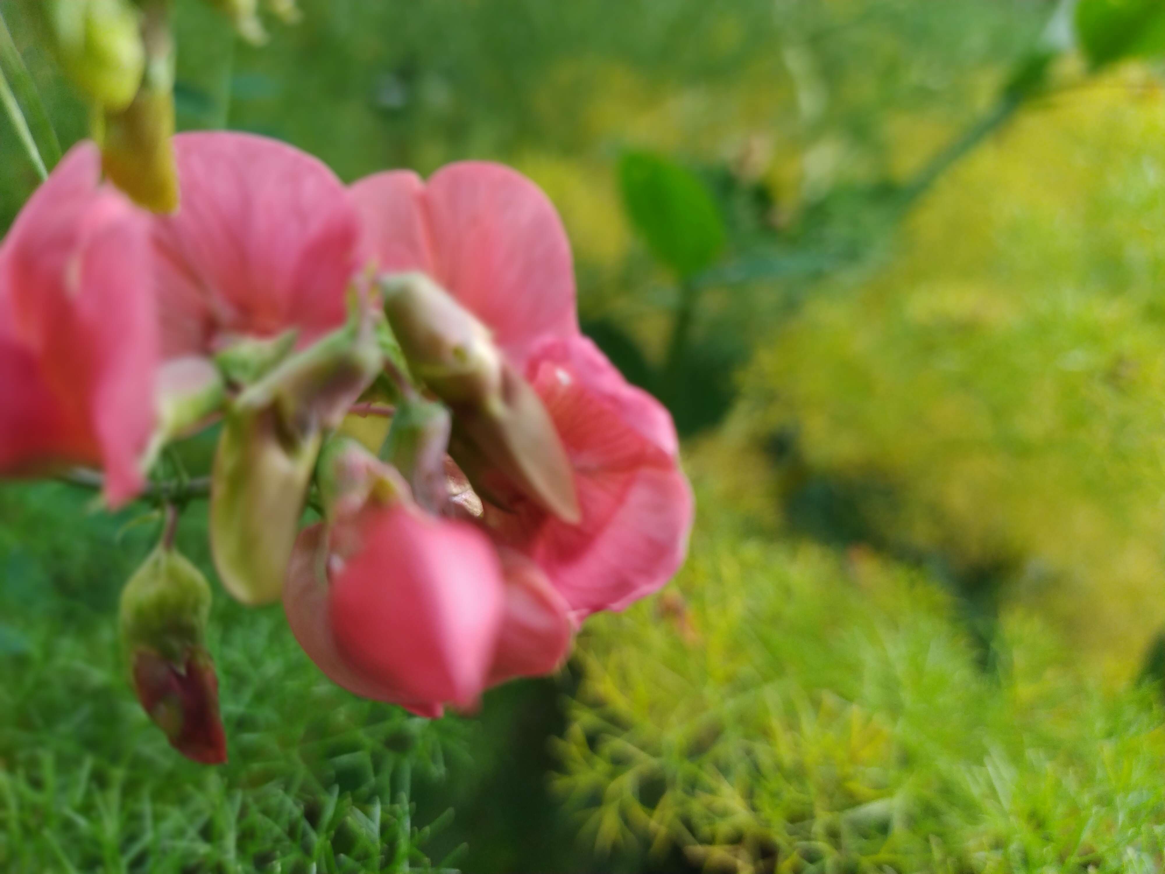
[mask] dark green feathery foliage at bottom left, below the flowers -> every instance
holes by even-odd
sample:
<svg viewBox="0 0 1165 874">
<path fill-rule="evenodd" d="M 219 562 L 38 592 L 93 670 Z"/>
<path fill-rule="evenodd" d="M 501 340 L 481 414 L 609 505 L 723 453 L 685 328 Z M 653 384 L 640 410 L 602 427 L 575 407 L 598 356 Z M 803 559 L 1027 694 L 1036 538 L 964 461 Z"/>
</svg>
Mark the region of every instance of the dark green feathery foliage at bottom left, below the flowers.
<svg viewBox="0 0 1165 874">
<path fill-rule="evenodd" d="M 116 641 L 118 592 L 153 526 L 84 516 L 61 486 L 0 491 L 0 869 L 396 872 L 430 867 L 414 781 L 472 736 L 362 702 L 299 650 L 278 609 L 219 597 L 210 649 L 231 761 L 171 750 L 141 711 Z M 182 548 L 205 564 L 205 519 Z"/>
</svg>

